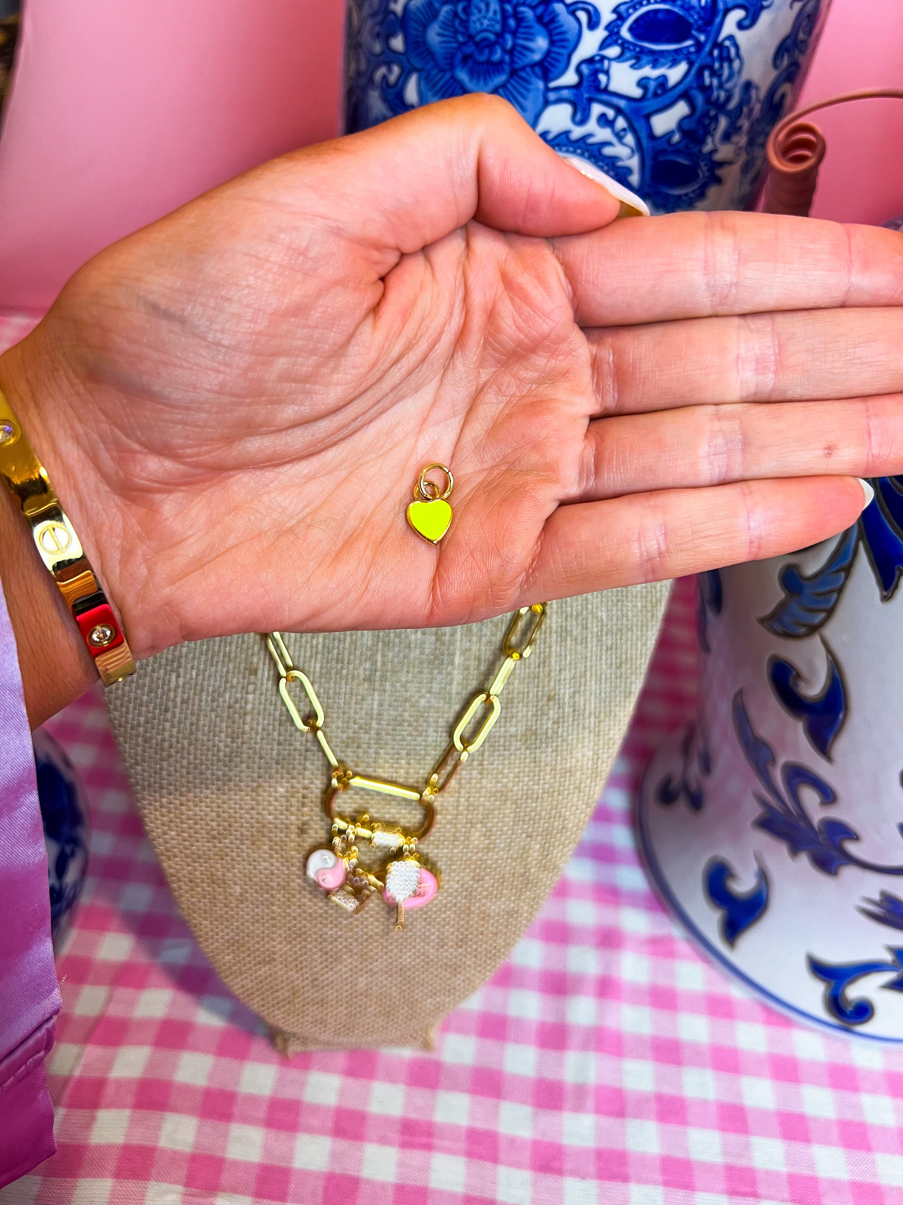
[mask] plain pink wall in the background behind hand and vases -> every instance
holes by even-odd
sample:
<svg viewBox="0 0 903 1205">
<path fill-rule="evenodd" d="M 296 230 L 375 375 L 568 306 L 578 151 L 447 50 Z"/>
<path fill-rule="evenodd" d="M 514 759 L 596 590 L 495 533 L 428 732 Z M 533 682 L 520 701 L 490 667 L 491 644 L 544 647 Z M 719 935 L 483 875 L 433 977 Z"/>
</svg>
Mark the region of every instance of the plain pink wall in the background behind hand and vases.
<svg viewBox="0 0 903 1205">
<path fill-rule="evenodd" d="M 338 130 L 343 0 L 25 0 L 0 140 L 0 308 L 41 311 L 100 247 Z M 833 0 L 803 100 L 903 87 L 903 0 Z M 903 101 L 820 119 L 814 213 L 903 211 Z"/>
</svg>

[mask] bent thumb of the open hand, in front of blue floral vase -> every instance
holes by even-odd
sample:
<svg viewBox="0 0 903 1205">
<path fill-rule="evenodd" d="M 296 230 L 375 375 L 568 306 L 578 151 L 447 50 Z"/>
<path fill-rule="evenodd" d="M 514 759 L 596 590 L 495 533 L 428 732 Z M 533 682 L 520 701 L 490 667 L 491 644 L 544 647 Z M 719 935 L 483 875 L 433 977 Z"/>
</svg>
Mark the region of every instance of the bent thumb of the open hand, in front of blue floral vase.
<svg viewBox="0 0 903 1205">
<path fill-rule="evenodd" d="M 420 251 L 471 218 L 554 237 L 608 225 L 621 207 L 500 96 L 426 105 L 290 161 L 303 164 L 307 212 L 355 242 L 396 253 Z"/>
</svg>

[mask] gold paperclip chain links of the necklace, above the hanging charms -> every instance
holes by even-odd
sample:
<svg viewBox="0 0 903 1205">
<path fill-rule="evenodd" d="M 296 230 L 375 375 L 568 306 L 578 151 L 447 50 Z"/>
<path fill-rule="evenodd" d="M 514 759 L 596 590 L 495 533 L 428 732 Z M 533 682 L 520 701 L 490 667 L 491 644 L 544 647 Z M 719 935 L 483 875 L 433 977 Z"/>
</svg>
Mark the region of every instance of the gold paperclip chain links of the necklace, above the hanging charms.
<svg viewBox="0 0 903 1205">
<path fill-rule="evenodd" d="M 508 625 L 508 630 L 504 634 L 504 640 L 502 641 L 503 659 L 498 666 L 498 671 L 492 678 L 492 684 L 488 689 L 474 694 L 465 710 L 461 712 L 452 734 L 452 743 L 432 768 L 432 771 L 426 780 L 426 786 L 419 793 L 411 787 L 402 786 L 401 783 L 384 782 L 378 778 L 367 778 L 361 775 L 353 774 L 346 764 L 336 757 L 329 741 L 326 740 L 326 734 L 323 728 L 326 717 L 313 682 L 311 682 L 308 676 L 302 670 L 297 669 L 291 660 L 291 654 L 285 647 L 285 641 L 282 639 L 282 634 L 278 631 L 264 633 L 262 635 L 267 651 L 279 672 L 279 695 L 285 705 L 285 710 L 289 716 L 291 716 L 291 722 L 299 731 L 311 733 L 317 737 L 324 757 L 330 764 L 332 781 L 331 787 L 326 793 L 326 799 L 324 800 L 324 806 L 326 806 L 330 818 L 332 818 L 332 799 L 336 792 L 346 790 L 349 787 L 356 787 L 361 790 L 395 795 L 401 799 L 420 800 L 427 815 L 425 827 L 426 831 L 429 831 L 429 827 L 432 825 L 433 816 L 432 800 L 436 795 L 439 795 L 443 790 L 445 790 L 458 772 L 458 768 L 464 765 L 471 753 L 476 753 L 477 750 L 480 748 L 492 730 L 502 710 L 502 690 L 518 664 L 520 662 L 525 662 L 533 651 L 536 637 L 539 634 L 543 622 L 545 621 L 548 606 L 548 602 L 533 602 L 532 606 L 523 606 L 519 611 L 514 612 L 514 616 Z M 301 684 L 305 694 L 307 695 L 307 701 L 313 709 L 306 717 L 301 715 L 295 699 L 289 692 L 289 688 L 295 682 Z M 483 713 L 478 717 L 477 713 L 480 709 Z M 477 723 L 476 731 L 468 735 L 467 730 L 474 723 Z M 419 837 L 425 835 L 426 833 L 424 829 L 418 833 Z"/>
</svg>

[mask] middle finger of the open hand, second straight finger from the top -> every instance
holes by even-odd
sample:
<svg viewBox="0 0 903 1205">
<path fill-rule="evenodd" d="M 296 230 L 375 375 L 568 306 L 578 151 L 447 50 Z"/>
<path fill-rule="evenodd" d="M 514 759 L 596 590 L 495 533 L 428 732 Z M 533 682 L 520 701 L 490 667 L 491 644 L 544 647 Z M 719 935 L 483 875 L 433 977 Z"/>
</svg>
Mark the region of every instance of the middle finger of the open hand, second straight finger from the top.
<svg viewBox="0 0 903 1205">
<path fill-rule="evenodd" d="M 903 390 L 903 308 L 686 318 L 585 335 L 596 415 Z"/>
</svg>

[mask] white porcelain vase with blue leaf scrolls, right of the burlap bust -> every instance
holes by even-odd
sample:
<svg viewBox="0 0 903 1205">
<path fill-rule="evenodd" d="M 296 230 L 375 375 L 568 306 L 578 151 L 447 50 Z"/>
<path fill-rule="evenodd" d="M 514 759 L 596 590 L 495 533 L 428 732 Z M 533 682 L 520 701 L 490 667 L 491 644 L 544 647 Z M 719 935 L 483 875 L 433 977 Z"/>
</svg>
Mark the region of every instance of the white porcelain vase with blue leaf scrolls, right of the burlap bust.
<svg viewBox="0 0 903 1205">
<path fill-rule="evenodd" d="M 767 1003 L 903 1041 L 903 477 L 832 540 L 698 580 L 696 723 L 637 806 L 660 894 Z"/>
</svg>

